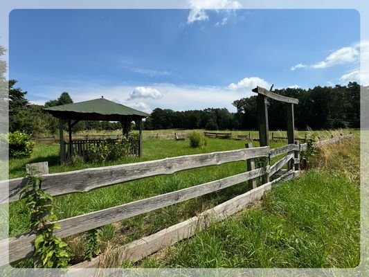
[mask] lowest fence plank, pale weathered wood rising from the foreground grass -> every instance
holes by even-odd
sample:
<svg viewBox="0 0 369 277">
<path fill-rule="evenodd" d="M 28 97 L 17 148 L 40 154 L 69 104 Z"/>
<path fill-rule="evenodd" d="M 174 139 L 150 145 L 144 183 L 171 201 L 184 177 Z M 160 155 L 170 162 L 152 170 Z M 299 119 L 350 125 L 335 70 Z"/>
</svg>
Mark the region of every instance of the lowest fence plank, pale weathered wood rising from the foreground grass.
<svg viewBox="0 0 369 277">
<path fill-rule="evenodd" d="M 264 192 L 270 190 L 278 181 L 291 179 L 292 177 L 294 177 L 294 172 L 289 171 L 278 179 L 230 199 L 214 208 L 210 208 L 199 216 L 192 217 L 189 220 L 170 226 L 167 229 L 163 229 L 157 233 L 135 240 L 122 247 L 118 247 L 114 250 L 114 253 L 111 254 L 117 256 L 115 261 L 116 265 L 113 266 L 119 267 L 125 260 L 137 262 L 165 247 L 173 245 L 183 239 L 190 238 L 192 235 L 195 235 L 196 231 L 207 228 L 211 222 L 224 220 L 224 218 L 242 211 L 242 209 L 251 204 L 251 202 L 261 199 Z M 96 257 L 93 262 L 91 261 L 91 264 L 96 265 L 99 260 L 98 257 Z M 88 266 L 89 264 L 81 262 L 78 265 L 74 265 L 72 268 L 81 268 L 86 265 Z"/>
</svg>

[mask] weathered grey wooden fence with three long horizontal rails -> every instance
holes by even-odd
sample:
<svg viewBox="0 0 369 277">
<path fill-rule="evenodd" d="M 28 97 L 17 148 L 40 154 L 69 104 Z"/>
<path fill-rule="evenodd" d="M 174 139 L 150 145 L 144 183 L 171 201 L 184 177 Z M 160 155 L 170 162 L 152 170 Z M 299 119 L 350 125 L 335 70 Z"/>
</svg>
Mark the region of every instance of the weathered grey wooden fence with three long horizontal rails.
<svg viewBox="0 0 369 277">
<path fill-rule="evenodd" d="M 341 136 L 339 139 L 330 139 L 327 143 L 334 143 L 342 139 L 351 138 L 352 135 Z M 321 141 L 322 144 L 325 144 Z M 222 218 L 240 211 L 247 204 L 255 199 L 260 199 L 265 190 L 269 190 L 273 184 L 282 179 L 289 179 L 298 175 L 300 151 L 307 150 L 307 144 L 290 144 L 281 148 L 270 149 L 269 146 L 242 150 L 231 150 L 224 152 L 213 152 L 208 154 L 195 154 L 181 157 L 160 159 L 155 161 L 145 161 L 140 163 L 130 163 L 118 166 L 107 166 L 102 168 L 87 168 L 71 172 L 62 172 L 55 174 L 42 175 L 42 189 L 53 196 L 65 195 L 68 193 L 78 193 L 93 190 L 103 186 L 119 184 L 125 181 L 153 177 L 156 175 L 170 175 L 181 170 L 200 168 L 204 166 L 215 166 L 233 161 L 247 161 L 247 170 L 238 175 L 226 177 L 223 179 L 210 181 L 205 184 L 183 188 L 163 195 L 156 195 L 146 199 L 129 202 L 111 208 L 105 208 L 100 211 L 69 217 L 64 220 L 58 220 L 61 229 L 56 229 L 54 234 L 60 238 L 75 235 L 100 226 L 125 220 L 129 217 L 155 211 L 159 208 L 177 204 L 201 195 L 213 193 L 223 188 L 228 188 L 244 181 L 249 181 L 251 190 L 243 195 L 237 196 L 213 209 L 201 213 L 197 217 L 187 220 L 162 230 L 159 233 L 127 244 L 120 249 L 120 259 L 129 258 L 132 261 L 139 260 L 149 253 L 173 244 L 183 238 L 188 238 L 195 233 L 195 229 L 204 228 L 212 220 L 221 220 Z M 287 154 L 285 154 L 287 153 Z M 280 154 L 285 154 L 282 159 L 270 165 L 270 158 Z M 262 158 L 267 161 L 262 168 L 255 168 L 255 158 Z M 281 172 L 285 165 L 288 165 L 287 171 L 277 179 L 270 181 L 273 175 Z M 262 177 L 261 186 L 256 186 L 255 179 Z M 0 181 L 0 203 L 14 202 L 19 199 L 19 189 L 27 182 L 27 178 L 10 179 Z M 6 186 L 8 183 L 8 186 Z M 195 228 L 196 227 L 196 228 Z M 0 266 L 8 262 L 15 262 L 30 258 L 33 253 L 33 241 L 35 233 L 24 233 L 15 238 L 0 241 L 1 249 L 9 249 L 0 253 Z M 159 243 L 160 242 L 160 243 Z M 7 248 L 8 246 L 8 248 Z M 96 259 L 95 259 L 96 260 Z M 122 260 L 122 261 L 123 261 Z"/>
</svg>

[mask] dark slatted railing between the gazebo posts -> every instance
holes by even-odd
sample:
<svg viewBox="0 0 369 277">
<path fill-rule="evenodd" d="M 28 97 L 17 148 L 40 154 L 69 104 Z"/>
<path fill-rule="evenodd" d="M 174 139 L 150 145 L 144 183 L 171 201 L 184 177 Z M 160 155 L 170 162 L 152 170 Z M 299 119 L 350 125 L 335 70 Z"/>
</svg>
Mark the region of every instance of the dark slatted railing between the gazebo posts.
<svg viewBox="0 0 369 277">
<path fill-rule="evenodd" d="M 121 139 L 78 139 L 75 141 L 64 141 L 64 160 L 70 159 L 72 155 L 78 155 L 86 159 L 89 155 L 89 147 L 91 144 L 100 145 L 101 143 L 115 144 Z M 129 140 L 128 156 L 138 157 L 140 148 L 140 141 L 136 139 Z"/>
</svg>

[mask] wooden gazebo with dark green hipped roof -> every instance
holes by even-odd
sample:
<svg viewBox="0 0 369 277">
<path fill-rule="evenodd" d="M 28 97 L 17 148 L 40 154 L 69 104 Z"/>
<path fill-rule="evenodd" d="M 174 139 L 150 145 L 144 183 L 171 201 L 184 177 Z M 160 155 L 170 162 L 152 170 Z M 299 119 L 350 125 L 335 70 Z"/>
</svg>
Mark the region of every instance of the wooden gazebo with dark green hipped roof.
<svg viewBox="0 0 369 277">
<path fill-rule="evenodd" d="M 60 105 L 44 108 L 44 111 L 59 118 L 59 137 L 60 137 L 60 162 L 64 163 L 67 157 L 74 152 L 82 154 L 89 143 L 93 140 L 72 140 L 72 128 L 80 120 L 99 120 L 99 121 L 119 121 L 122 123 L 123 135 L 129 133 L 129 127 L 134 121 L 139 128 L 138 157 L 142 156 L 142 119 L 150 116 L 143 111 L 132 109 L 125 105 L 120 105 L 105 98 L 98 98 L 83 102 Z M 68 123 L 69 142 L 64 141 L 63 125 Z M 68 146 L 68 149 L 66 148 Z"/>
</svg>

